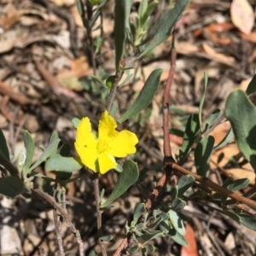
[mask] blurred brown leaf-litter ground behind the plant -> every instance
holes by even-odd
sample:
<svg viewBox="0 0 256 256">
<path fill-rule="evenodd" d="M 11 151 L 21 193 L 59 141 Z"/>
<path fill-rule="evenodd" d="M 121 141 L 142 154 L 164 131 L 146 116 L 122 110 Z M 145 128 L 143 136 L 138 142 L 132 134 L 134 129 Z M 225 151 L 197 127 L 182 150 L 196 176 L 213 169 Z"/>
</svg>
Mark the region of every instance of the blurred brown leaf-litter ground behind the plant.
<svg viewBox="0 0 256 256">
<path fill-rule="evenodd" d="M 131 20 L 139 2 L 135 1 L 132 7 Z M 225 100 L 232 90 L 246 90 L 253 78 L 256 57 L 253 8 L 255 5 L 247 1 L 193 0 L 184 11 L 175 33 L 177 61 L 170 94 L 172 128 L 184 130 L 189 114 L 199 112 L 205 72 L 208 85 L 203 106 L 204 120 L 214 109 L 224 109 Z M 159 15 L 156 9 L 152 19 Z M 99 20 L 96 21 L 98 25 Z M 14 162 L 23 148 L 21 130 L 29 131 L 37 146 L 47 145 L 52 132 L 57 131 L 61 141 L 73 148 L 76 132 L 71 120 L 74 117 L 89 117 L 96 129 L 105 108 L 108 88 L 90 83 L 88 78 L 95 74 L 95 70 L 102 81 L 114 73 L 113 1 L 103 9 L 102 29 L 103 54 L 94 59 L 74 0 L 1 1 L 0 128 L 14 155 Z M 101 39 L 99 31 L 92 35 L 94 43 Z M 130 73 L 136 71 L 136 75 L 122 86 L 115 100 L 122 113 L 142 90 L 148 75 L 155 68 L 164 70 L 154 101 L 143 115 L 122 127 L 136 132 L 140 139 L 135 160 L 140 170 L 143 167 L 152 170 L 143 181 L 150 189 L 154 186 L 153 176 L 160 178 L 161 175 L 155 170 L 163 160 L 161 104 L 170 68 L 171 42 L 170 36 L 154 49 L 152 55 L 131 63 L 135 69 Z M 218 125 L 212 131 L 215 142 L 220 142 L 229 129 L 229 123 Z M 172 134 L 170 138 L 172 153 L 178 154 L 182 138 Z M 41 149 L 37 147 L 35 153 L 34 160 L 37 160 Z M 72 154 L 76 154 L 74 148 Z M 224 158 L 218 161 L 220 154 L 224 154 Z M 248 177 L 249 186 L 253 185 L 254 172 L 249 164 L 230 166 L 230 158 L 237 154 L 239 150 L 235 143 L 212 154 L 212 181 L 222 184 L 228 176 Z M 193 158 L 184 166 L 195 172 Z M 39 166 L 37 172 L 45 174 L 44 166 Z M 73 174 L 76 175 L 78 173 Z M 112 191 L 117 177 L 116 172 L 101 177 L 100 185 L 106 190 L 106 195 Z M 100 251 L 96 243 L 92 191 L 90 179 L 69 183 L 67 188 L 67 211 L 81 232 L 86 255 L 92 249 Z M 135 205 L 145 201 L 146 197 L 147 194 L 143 195 L 137 187 L 132 187 L 129 193 L 115 201 L 115 207 L 104 212 L 103 233 L 113 234 L 113 241 L 107 246 L 109 255 L 113 255 L 125 236 L 125 221 L 131 220 Z M 183 214 L 189 217 L 186 223 L 189 249 L 168 239 L 156 239 L 157 250 L 152 255 L 255 255 L 255 231 L 237 224 L 209 201 L 197 201 L 192 197 L 187 204 Z M 2 196 L 0 211 L 1 255 L 38 255 L 42 249 L 45 255 L 57 255 L 53 214 L 48 204 L 36 195 L 31 198 L 20 195 L 15 200 Z M 65 224 L 62 232 L 66 255 L 75 255 L 78 246 L 73 234 Z"/>
</svg>

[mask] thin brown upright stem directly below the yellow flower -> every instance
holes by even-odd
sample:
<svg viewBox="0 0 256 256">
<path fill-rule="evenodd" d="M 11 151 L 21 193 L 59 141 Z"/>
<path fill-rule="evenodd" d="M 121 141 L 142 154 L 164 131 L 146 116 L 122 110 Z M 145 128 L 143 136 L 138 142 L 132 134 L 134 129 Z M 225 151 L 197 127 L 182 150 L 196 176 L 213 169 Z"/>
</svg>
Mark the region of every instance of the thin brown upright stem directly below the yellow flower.
<svg viewBox="0 0 256 256">
<path fill-rule="evenodd" d="M 107 256 L 107 251 L 104 246 L 104 242 L 101 241 L 102 237 L 102 211 L 100 208 L 100 189 L 99 189 L 99 173 L 95 173 L 93 179 L 93 186 L 94 186 L 94 194 L 95 194 L 95 202 L 96 202 L 96 215 L 97 215 L 97 235 L 98 235 L 98 241 L 100 243 L 102 254 L 103 256 Z"/>
</svg>

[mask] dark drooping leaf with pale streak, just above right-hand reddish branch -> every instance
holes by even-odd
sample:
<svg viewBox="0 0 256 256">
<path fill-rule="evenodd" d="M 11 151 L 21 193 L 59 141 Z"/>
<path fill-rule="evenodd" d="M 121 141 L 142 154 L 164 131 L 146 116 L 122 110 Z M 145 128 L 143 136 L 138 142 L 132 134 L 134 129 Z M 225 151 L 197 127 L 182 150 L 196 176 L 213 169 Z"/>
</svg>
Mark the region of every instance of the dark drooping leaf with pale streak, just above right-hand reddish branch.
<svg viewBox="0 0 256 256">
<path fill-rule="evenodd" d="M 214 146 L 214 137 L 208 136 L 203 138 L 195 148 L 195 166 L 196 172 L 202 177 L 208 176 L 208 165 Z"/>
</svg>

